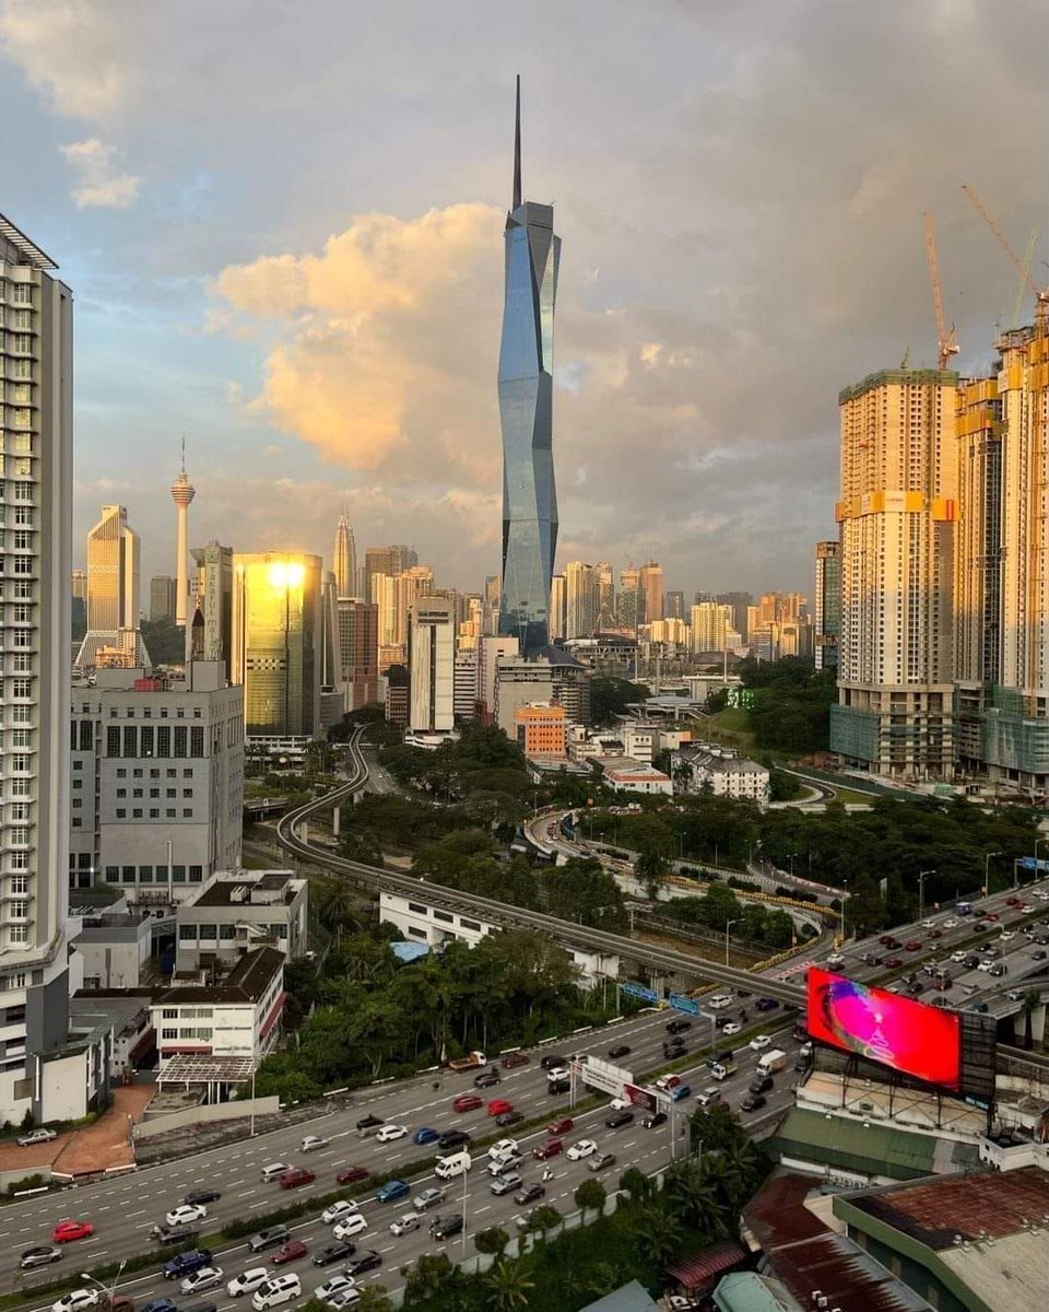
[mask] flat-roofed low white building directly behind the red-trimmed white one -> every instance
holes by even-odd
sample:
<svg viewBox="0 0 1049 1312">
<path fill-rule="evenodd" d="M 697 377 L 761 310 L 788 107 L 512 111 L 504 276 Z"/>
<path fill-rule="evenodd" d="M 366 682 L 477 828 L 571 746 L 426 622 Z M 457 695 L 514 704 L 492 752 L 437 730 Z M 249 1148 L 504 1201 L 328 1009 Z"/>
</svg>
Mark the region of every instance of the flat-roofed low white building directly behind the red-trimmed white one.
<svg viewBox="0 0 1049 1312">
<path fill-rule="evenodd" d="M 232 966 L 269 943 L 288 960 L 308 943 L 308 884 L 290 870 L 220 870 L 176 908 L 176 970 Z"/>
</svg>

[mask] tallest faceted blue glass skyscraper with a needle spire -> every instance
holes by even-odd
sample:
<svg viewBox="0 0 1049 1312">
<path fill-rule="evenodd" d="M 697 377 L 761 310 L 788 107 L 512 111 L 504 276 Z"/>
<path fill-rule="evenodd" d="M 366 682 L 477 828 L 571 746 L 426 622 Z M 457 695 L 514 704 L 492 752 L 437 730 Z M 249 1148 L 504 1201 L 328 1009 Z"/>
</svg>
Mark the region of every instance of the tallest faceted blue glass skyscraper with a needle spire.
<svg viewBox="0 0 1049 1312">
<path fill-rule="evenodd" d="M 506 215 L 506 289 L 500 348 L 502 593 L 500 634 L 532 656 L 549 644 L 557 548 L 553 487 L 553 307 L 561 239 L 553 206 L 521 199 L 521 79 L 514 127 L 514 205 Z"/>
</svg>

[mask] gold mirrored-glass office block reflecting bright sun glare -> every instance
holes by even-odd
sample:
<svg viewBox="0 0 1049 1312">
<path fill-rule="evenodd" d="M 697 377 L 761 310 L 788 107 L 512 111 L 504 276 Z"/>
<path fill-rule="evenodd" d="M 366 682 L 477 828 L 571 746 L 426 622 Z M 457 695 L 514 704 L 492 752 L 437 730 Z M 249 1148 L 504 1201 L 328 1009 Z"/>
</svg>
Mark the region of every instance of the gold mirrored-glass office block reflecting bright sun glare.
<svg viewBox="0 0 1049 1312">
<path fill-rule="evenodd" d="M 303 552 L 233 556 L 233 682 L 256 745 L 300 747 L 321 729 L 321 559 Z"/>
</svg>

